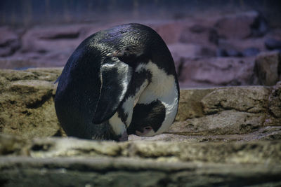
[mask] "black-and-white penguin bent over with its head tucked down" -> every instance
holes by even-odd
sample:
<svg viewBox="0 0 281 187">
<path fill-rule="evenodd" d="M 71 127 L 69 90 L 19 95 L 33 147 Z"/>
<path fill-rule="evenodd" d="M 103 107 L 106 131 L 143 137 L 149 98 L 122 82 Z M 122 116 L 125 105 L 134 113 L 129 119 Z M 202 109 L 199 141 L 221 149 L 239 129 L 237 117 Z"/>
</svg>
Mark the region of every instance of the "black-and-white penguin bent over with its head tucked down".
<svg viewBox="0 0 281 187">
<path fill-rule="evenodd" d="M 171 53 L 157 32 L 137 23 L 86 38 L 57 81 L 55 112 L 71 137 L 153 136 L 167 130 L 178 111 Z"/>
</svg>

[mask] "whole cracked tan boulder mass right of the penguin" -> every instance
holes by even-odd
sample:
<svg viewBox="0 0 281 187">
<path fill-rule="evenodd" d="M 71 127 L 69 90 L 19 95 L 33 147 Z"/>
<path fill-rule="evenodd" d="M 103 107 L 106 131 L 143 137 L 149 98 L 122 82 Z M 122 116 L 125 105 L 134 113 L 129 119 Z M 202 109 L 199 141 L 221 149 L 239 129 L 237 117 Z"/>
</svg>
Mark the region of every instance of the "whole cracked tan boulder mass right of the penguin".
<svg viewBox="0 0 281 187">
<path fill-rule="evenodd" d="M 181 90 L 176 122 L 167 132 L 247 134 L 265 126 L 281 125 L 279 89 L 278 85 L 275 88 L 243 86 Z"/>
</svg>

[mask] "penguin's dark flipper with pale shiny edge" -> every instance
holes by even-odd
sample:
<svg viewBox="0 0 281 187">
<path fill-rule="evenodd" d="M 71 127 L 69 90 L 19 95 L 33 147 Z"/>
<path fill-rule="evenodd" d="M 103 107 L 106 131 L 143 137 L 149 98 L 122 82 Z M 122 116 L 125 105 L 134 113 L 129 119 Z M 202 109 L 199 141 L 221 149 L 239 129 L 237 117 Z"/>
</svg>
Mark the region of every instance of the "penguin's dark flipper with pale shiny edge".
<svg viewBox="0 0 281 187">
<path fill-rule="evenodd" d="M 124 99 L 133 74 L 128 64 L 115 57 L 107 59 L 100 67 L 100 95 L 93 123 L 100 124 L 111 118 Z"/>
</svg>

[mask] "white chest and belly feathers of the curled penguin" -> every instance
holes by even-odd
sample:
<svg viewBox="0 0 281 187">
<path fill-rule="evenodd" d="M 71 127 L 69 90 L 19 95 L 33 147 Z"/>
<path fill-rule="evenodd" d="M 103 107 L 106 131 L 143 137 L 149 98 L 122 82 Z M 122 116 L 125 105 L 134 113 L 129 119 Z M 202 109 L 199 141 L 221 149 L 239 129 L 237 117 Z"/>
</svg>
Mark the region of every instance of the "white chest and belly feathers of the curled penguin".
<svg viewBox="0 0 281 187">
<path fill-rule="evenodd" d="M 150 71 L 152 75 L 151 82 L 148 83 L 148 80 L 145 80 L 133 96 L 127 97 L 124 100 L 122 109 L 124 110 L 124 113 L 128 115 L 126 122 L 122 122 L 118 117 L 118 112 L 110 118 L 110 124 L 117 134 L 122 134 L 122 132 L 126 130 L 126 127 L 131 123 L 133 107 L 136 103 L 150 104 L 151 102 L 159 100 L 166 109 L 165 118 L 159 130 L 157 130 L 157 132 L 152 130 L 148 134 L 145 134 L 145 136 L 154 136 L 155 134 L 160 134 L 166 131 L 176 117 L 176 112 L 178 110 L 178 90 L 174 76 L 167 75 L 164 70 L 159 69 L 157 65 L 152 62 L 148 62 L 148 64 L 139 64 L 136 68 L 136 72 L 141 71 L 142 69 Z"/>
</svg>

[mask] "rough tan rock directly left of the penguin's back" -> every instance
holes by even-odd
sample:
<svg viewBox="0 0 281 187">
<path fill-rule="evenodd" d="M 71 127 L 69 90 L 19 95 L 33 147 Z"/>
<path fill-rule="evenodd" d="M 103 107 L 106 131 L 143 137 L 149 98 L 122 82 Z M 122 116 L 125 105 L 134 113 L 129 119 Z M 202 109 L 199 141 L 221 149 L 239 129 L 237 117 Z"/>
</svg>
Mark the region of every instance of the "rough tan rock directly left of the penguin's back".
<svg viewBox="0 0 281 187">
<path fill-rule="evenodd" d="M 53 83 L 61 70 L 0 71 L 0 132 L 25 139 L 58 133 Z"/>
</svg>

